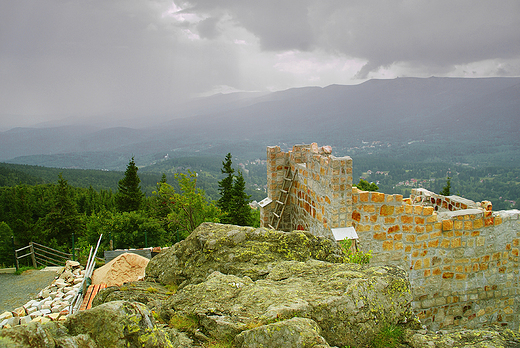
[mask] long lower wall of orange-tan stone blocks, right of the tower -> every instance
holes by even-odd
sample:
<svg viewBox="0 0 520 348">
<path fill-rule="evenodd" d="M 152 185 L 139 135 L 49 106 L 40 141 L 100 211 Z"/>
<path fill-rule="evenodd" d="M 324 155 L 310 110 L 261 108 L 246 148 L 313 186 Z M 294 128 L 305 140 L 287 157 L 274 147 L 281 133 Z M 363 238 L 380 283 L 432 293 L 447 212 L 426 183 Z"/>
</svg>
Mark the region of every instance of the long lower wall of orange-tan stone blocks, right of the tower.
<svg viewBox="0 0 520 348">
<path fill-rule="evenodd" d="M 354 188 L 352 219 L 361 249 L 372 250 L 373 264 L 408 270 L 414 308 L 430 329 L 518 328 L 520 211 L 492 212 L 489 202 L 472 202 L 477 208 L 436 212 L 438 197 L 434 203 L 418 199 L 425 194 L 438 196 L 413 190 L 403 199 Z"/>
</svg>

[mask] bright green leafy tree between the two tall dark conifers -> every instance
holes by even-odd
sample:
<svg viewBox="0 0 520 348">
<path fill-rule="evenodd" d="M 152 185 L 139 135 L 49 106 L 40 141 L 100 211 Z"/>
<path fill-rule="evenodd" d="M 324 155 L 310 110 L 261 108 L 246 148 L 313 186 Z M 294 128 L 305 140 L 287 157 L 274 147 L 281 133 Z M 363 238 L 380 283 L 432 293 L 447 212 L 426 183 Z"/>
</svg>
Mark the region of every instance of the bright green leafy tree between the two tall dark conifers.
<svg viewBox="0 0 520 348">
<path fill-rule="evenodd" d="M 219 222 L 221 211 L 213 203 L 208 202 L 204 190 L 197 188 L 197 175 L 189 172 L 175 174 L 180 193 L 167 184 L 161 183 L 158 195 L 166 202 L 169 209 L 167 215 L 170 230 L 191 233 L 203 222 Z"/>
</svg>

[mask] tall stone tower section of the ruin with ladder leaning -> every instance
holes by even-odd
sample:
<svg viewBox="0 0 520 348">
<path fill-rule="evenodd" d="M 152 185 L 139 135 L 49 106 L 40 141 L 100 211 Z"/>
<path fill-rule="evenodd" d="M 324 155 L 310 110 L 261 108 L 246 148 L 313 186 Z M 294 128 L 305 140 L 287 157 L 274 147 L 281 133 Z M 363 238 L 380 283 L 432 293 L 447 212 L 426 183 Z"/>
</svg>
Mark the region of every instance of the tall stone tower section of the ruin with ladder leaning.
<svg viewBox="0 0 520 348">
<path fill-rule="evenodd" d="M 332 237 L 331 228 L 352 226 L 352 159 L 330 153 L 329 146 L 316 143 L 295 145 L 288 152 L 278 146 L 267 148 L 268 197 L 278 199 L 287 170 L 296 172 L 279 230 Z M 274 202 L 262 209 L 262 226 L 269 224 L 273 209 Z"/>
</svg>

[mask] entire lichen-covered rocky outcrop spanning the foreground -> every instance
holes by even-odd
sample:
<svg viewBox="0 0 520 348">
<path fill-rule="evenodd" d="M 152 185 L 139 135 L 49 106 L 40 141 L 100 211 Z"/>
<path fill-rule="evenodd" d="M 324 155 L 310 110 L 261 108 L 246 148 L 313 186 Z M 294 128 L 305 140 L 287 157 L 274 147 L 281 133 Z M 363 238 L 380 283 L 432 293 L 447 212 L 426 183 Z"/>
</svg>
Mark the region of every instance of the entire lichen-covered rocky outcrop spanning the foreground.
<svg viewBox="0 0 520 348">
<path fill-rule="evenodd" d="M 511 330 L 429 332 L 406 272 L 346 264 L 303 231 L 205 223 L 146 279 L 62 322 L 0 330 L 0 347 L 520 347 Z"/>
</svg>

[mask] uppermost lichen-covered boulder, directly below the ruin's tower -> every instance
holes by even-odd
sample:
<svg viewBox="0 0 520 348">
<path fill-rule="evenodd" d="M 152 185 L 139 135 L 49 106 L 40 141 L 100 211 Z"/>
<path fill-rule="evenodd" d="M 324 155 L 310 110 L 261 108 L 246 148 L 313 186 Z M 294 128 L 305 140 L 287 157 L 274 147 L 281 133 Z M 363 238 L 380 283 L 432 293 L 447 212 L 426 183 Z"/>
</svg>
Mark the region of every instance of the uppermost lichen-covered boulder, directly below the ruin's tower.
<svg viewBox="0 0 520 348">
<path fill-rule="evenodd" d="M 252 280 L 265 278 L 281 261 L 342 262 L 333 240 L 309 232 L 203 223 L 183 242 L 150 260 L 146 279 L 180 288 L 200 283 L 214 271 Z"/>
</svg>

